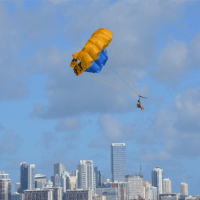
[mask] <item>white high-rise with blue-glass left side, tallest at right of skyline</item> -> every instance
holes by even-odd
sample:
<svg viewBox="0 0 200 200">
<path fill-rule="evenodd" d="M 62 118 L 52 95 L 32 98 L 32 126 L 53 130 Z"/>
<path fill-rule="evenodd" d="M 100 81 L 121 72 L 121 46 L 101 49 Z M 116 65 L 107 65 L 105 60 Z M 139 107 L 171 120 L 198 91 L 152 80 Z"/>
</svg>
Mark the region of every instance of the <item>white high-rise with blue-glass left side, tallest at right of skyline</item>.
<svg viewBox="0 0 200 200">
<path fill-rule="evenodd" d="M 151 172 L 152 186 L 157 187 L 157 193 L 163 193 L 163 170 L 156 167 Z"/>
</svg>

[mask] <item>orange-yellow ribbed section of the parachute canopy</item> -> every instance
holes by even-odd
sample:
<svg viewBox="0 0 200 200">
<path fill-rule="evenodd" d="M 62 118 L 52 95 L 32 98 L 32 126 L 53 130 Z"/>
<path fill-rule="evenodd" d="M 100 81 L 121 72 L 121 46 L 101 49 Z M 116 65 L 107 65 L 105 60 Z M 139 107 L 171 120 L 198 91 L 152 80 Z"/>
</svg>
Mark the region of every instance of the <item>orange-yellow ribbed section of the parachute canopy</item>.
<svg viewBox="0 0 200 200">
<path fill-rule="evenodd" d="M 106 28 L 95 31 L 83 49 L 72 55 L 70 67 L 74 68 L 74 73 L 79 76 L 90 68 L 91 64 L 99 58 L 101 51 L 110 45 L 112 38 L 112 32 Z"/>
</svg>

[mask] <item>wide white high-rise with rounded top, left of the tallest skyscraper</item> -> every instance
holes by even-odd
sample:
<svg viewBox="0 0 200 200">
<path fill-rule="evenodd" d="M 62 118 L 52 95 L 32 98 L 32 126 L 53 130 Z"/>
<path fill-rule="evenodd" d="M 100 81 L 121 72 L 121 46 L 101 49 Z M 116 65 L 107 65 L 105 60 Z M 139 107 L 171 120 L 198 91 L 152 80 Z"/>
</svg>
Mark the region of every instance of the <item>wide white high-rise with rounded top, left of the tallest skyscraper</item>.
<svg viewBox="0 0 200 200">
<path fill-rule="evenodd" d="M 95 192 L 96 180 L 92 160 L 80 160 L 78 165 L 78 189 L 93 190 Z"/>
</svg>

